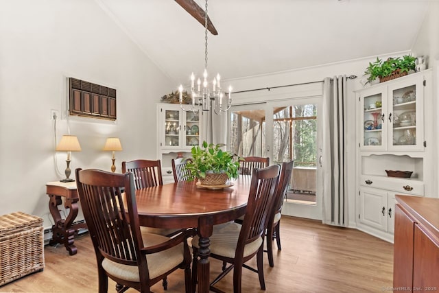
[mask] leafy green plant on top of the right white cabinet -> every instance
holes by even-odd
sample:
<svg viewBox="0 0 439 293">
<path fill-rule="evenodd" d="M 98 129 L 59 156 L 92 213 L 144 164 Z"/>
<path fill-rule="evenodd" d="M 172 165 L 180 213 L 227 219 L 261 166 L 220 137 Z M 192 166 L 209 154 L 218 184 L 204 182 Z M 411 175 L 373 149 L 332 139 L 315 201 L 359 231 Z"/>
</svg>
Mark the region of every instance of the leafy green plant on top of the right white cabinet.
<svg viewBox="0 0 439 293">
<path fill-rule="evenodd" d="M 416 67 L 415 60 L 416 58 L 412 55 L 388 58 L 385 61 L 377 58 L 375 62 L 369 62 L 369 66 L 364 71 L 364 74 L 369 75 L 369 83 L 372 83 L 377 78 L 379 78 L 379 82 L 386 82 L 407 75 L 411 70 L 414 71 Z"/>
</svg>

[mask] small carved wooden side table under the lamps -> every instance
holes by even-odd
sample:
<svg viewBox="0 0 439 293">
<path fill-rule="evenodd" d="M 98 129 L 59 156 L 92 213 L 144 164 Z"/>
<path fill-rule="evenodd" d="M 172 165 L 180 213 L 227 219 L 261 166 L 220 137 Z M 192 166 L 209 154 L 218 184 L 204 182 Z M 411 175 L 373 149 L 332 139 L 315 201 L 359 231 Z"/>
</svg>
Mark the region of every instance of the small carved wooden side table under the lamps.
<svg viewBox="0 0 439 293">
<path fill-rule="evenodd" d="M 78 215 L 78 191 L 76 190 L 75 182 L 62 183 L 60 181 L 46 183 L 46 194 L 49 196 L 49 210 L 54 218 L 54 226 L 52 226 L 53 235 L 49 244 L 54 245 L 57 243 L 64 244 L 69 251 L 69 255 L 75 255 L 77 253 L 75 242 L 75 232 L 78 232 L 80 228 L 87 228 L 86 223 L 72 224 Z M 69 215 L 64 220 L 61 218 L 58 206 L 62 204 L 64 198 L 64 207 L 69 209 Z"/>
</svg>

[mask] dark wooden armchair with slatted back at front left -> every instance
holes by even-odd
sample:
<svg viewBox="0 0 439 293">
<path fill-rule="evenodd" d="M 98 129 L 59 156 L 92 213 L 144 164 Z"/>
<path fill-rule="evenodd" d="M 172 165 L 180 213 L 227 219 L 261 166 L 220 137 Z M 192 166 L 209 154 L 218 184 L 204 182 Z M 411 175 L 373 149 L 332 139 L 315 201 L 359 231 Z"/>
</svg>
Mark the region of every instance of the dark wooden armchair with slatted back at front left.
<svg viewBox="0 0 439 293">
<path fill-rule="evenodd" d="M 108 292 L 108 278 L 117 292 L 152 285 L 178 268 L 185 270 L 185 291 L 191 292 L 189 231 L 169 238 L 141 233 L 134 175 L 97 169 L 75 170 L 78 195 L 95 248 L 99 292 Z M 125 194 L 126 204 L 123 202 Z"/>
</svg>

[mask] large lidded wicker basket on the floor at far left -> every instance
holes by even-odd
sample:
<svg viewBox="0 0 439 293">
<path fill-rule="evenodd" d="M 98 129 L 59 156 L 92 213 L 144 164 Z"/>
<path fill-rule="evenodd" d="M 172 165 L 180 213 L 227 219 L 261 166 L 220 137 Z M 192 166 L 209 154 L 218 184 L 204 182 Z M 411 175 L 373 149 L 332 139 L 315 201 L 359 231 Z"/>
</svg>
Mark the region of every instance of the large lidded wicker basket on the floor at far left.
<svg viewBox="0 0 439 293">
<path fill-rule="evenodd" d="M 43 219 L 16 212 L 0 216 L 0 285 L 44 268 Z"/>
</svg>

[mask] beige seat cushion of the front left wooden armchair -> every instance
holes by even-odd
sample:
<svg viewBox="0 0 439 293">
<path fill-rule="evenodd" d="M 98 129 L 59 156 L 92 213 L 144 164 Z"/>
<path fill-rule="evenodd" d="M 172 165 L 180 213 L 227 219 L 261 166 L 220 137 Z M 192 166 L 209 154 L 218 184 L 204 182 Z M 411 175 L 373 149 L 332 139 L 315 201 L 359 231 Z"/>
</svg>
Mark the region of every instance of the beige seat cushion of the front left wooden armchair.
<svg viewBox="0 0 439 293">
<path fill-rule="evenodd" d="M 142 233 L 142 238 L 145 247 L 161 244 L 169 240 L 169 237 L 150 233 Z M 159 253 L 153 253 L 146 257 L 148 270 L 150 271 L 150 279 L 154 279 L 182 263 L 183 244 L 178 244 L 173 248 L 169 248 Z M 140 281 L 138 266 L 128 266 L 115 261 L 110 261 L 110 259 L 104 259 L 104 261 L 102 261 L 102 268 L 104 268 L 108 274 L 119 279 L 132 282 Z"/>
</svg>

